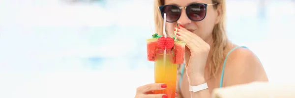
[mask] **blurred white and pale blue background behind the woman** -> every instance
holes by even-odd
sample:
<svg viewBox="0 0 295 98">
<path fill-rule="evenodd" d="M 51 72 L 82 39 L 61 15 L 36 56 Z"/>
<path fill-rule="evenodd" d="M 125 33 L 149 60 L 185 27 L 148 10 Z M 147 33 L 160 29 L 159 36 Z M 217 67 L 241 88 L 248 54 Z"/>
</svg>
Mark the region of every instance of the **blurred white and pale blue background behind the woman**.
<svg viewBox="0 0 295 98">
<path fill-rule="evenodd" d="M 153 0 L 0 0 L 0 98 L 133 98 L 153 82 Z M 295 0 L 227 0 L 230 40 L 295 82 Z"/>
</svg>

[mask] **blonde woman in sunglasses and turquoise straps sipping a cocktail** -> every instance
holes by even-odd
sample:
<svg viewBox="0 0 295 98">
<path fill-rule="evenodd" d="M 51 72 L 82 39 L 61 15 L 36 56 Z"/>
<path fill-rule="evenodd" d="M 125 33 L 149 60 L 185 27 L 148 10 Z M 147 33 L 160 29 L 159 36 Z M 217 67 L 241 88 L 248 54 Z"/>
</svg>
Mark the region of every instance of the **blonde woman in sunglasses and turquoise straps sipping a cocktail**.
<svg viewBox="0 0 295 98">
<path fill-rule="evenodd" d="M 157 32 L 163 31 L 162 15 L 166 13 L 167 32 L 173 34 L 180 25 L 176 37 L 186 42 L 185 65 L 177 74 L 177 98 L 210 98 L 214 88 L 268 81 L 256 55 L 227 39 L 225 5 L 225 0 L 155 0 Z M 207 88 L 189 90 L 199 85 Z M 135 98 L 166 98 L 151 93 L 165 87 L 163 83 L 138 87 Z"/>
</svg>

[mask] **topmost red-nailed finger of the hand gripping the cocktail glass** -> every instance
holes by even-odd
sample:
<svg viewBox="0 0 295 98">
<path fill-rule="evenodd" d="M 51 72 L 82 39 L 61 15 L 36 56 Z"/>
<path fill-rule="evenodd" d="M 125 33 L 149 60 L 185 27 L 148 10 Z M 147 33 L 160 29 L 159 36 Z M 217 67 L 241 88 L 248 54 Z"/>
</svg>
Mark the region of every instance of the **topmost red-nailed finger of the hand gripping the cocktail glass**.
<svg viewBox="0 0 295 98">
<path fill-rule="evenodd" d="M 137 88 L 137 93 L 146 93 L 154 90 L 164 90 L 167 85 L 163 83 L 151 83 Z"/>
</svg>

